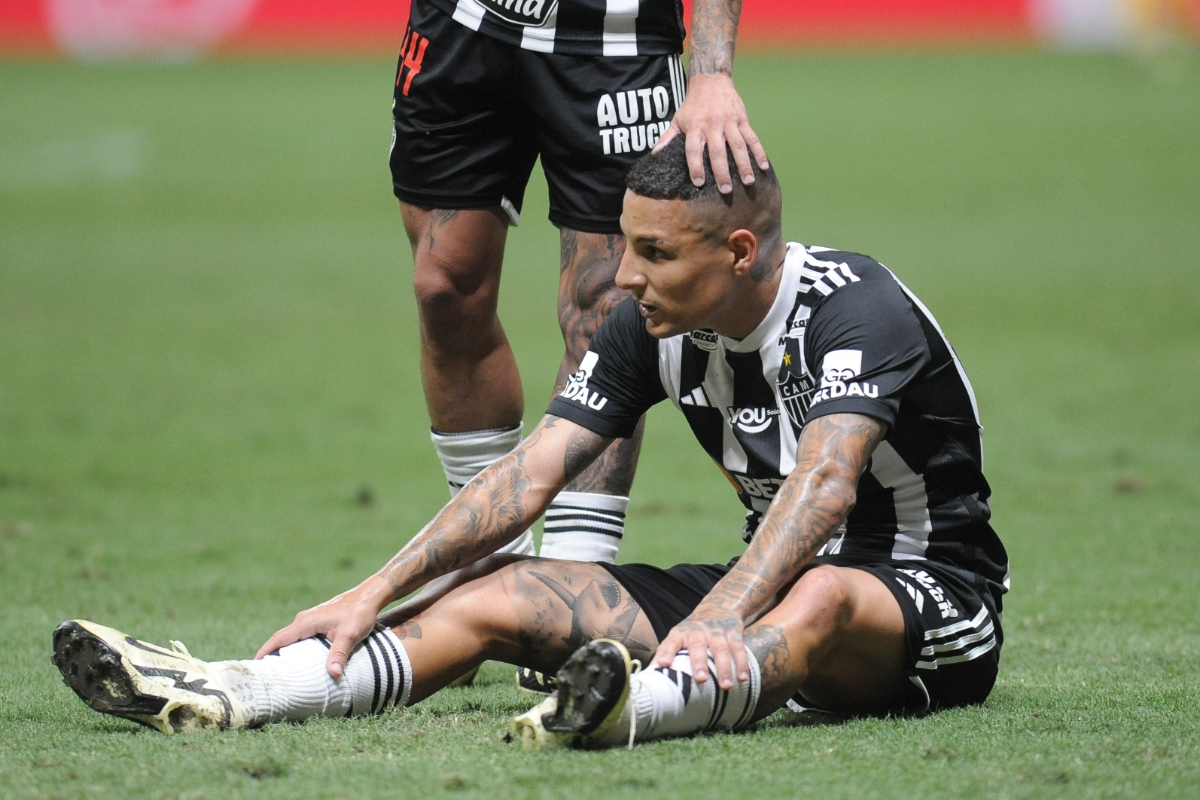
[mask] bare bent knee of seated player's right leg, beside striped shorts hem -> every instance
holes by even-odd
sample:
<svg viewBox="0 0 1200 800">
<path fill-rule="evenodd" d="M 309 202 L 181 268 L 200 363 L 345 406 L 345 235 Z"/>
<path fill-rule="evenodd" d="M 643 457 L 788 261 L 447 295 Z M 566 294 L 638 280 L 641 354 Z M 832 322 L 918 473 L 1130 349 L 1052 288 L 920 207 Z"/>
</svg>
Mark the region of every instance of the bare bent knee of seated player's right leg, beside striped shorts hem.
<svg viewBox="0 0 1200 800">
<path fill-rule="evenodd" d="M 899 708 L 912 691 L 900 606 L 862 570 L 809 570 L 744 640 L 762 672 L 758 718 L 796 692 L 818 708 L 853 712 Z"/>
</svg>

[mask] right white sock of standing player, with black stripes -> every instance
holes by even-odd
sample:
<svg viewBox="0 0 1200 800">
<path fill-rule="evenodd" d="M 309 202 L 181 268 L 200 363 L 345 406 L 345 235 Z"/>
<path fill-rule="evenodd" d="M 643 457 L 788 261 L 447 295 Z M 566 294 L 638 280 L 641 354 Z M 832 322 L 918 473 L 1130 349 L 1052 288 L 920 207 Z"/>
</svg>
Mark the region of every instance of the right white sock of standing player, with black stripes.
<svg viewBox="0 0 1200 800">
<path fill-rule="evenodd" d="M 542 523 L 538 555 L 568 561 L 617 560 L 629 498 L 595 492 L 559 492 Z"/>
</svg>

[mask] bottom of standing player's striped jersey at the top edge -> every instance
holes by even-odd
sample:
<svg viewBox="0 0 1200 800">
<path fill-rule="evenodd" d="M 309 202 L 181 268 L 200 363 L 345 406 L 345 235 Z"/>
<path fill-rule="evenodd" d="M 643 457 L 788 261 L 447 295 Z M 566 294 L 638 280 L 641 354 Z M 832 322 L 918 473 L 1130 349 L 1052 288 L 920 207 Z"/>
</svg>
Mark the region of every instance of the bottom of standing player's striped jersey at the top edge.
<svg viewBox="0 0 1200 800">
<path fill-rule="evenodd" d="M 683 52 L 682 0 L 413 0 L 467 28 L 536 53 L 672 55 Z"/>
</svg>

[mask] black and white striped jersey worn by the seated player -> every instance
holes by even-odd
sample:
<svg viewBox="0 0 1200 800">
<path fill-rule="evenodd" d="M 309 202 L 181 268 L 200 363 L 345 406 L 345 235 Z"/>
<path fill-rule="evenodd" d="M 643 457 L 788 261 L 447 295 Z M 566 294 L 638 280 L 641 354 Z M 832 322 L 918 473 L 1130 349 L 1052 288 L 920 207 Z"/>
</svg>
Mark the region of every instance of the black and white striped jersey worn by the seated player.
<svg viewBox="0 0 1200 800">
<path fill-rule="evenodd" d="M 888 434 L 857 505 L 816 563 L 929 559 L 980 576 L 996 595 L 1007 589 L 971 384 L 932 314 L 870 257 L 788 245 L 775 302 L 742 341 L 713 331 L 656 339 L 628 301 L 550 414 L 629 437 L 667 398 L 737 489 L 746 541 L 796 468 L 808 420 L 882 420 Z"/>
</svg>

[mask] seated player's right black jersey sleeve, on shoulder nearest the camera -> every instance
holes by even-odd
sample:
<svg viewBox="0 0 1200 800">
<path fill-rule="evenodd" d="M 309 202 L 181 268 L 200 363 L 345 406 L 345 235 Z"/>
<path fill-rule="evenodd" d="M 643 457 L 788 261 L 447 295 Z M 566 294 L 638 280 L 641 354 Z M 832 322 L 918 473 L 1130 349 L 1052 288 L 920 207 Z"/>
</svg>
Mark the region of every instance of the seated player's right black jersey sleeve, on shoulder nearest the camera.
<svg viewBox="0 0 1200 800">
<path fill-rule="evenodd" d="M 889 427 L 901 396 L 930 363 L 920 321 L 890 277 L 826 297 L 812 312 L 804 356 L 817 384 L 806 419 L 865 414 Z"/>
</svg>

